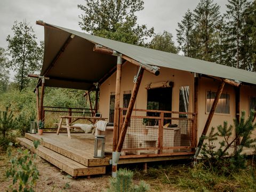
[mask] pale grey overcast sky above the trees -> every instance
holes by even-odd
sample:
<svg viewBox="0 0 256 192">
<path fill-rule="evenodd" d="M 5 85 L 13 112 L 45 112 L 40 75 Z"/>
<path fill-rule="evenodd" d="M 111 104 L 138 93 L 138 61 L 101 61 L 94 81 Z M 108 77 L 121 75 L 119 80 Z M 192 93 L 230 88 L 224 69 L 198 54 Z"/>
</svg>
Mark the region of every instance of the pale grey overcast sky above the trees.
<svg viewBox="0 0 256 192">
<path fill-rule="evenodd" d="M 138 23 L 154 27 L 156 33 L 167 30 L 174 36 L 176 43 L 177 23 L 181 21 L 185 12 L 194 10 L 199 0 L 145 0 L 145 9 L 139 12 Z M 215 0 L 225 12 L 227 0 Z M 82 12 L 77 8 L 84 4 L 84 0 L 0 0 L 0 47 L 6 49 L 6 36 L 12 34 L 15 20 L 27 20 L 33 26 L 39 40 L 44 40 L 44 29 L 35 24 L 36 20 L 43 20 L 57 26 L 74 30 L 78 26 L 78 15 Z"/>
</svg>

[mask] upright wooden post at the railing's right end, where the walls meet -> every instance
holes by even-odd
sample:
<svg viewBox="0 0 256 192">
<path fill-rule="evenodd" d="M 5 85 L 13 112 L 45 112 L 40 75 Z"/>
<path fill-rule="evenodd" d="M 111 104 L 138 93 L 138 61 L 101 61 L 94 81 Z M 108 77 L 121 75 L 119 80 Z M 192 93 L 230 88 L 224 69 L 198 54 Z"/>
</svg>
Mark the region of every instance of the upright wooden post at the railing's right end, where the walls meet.
<svg viewBox="0 0 256 192">
<path fill-rule="evenodd" d="M 194 118 L 194 126 L 192 129 L 192 149 L 191 150 L 195 150 L 196 147 L 196 143 L 197 143 L 197 116 L 198 116 L 198 90 L 199 90 L 199 79 L 198 79 L 198 74 L 195 74 L 194 77 L 194 113 L 195 113 L 195 118 Z"/>
</svg>

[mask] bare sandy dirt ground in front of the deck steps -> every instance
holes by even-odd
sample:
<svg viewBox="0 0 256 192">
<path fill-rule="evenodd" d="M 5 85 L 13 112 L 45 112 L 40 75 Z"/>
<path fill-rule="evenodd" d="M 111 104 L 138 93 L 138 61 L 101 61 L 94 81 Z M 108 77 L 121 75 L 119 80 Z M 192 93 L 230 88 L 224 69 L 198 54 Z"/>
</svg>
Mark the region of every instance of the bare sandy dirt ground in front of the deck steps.
<svg viewBox="0 0 256 192">
<path fill-rule="evenodd" d="M 14 152 L 15 153 L 15 150 Z M 0 153 L 0 191 L 8 190 L 12 181 L 8 180 L 5 172 L 10 166 L 9 158 L 5 153 Z M 40 173 L 35 191 L 106 191 L 111 178 L 110 173 L 106 175 L 93 175 L 91 178 L 71 178 L 57 167 L 37 157 L 37 169 Z M 135 183 L 139 183 L 134 178 Z M 150 191 L 179 191 L 170 185 L 163 185 L 158 179 L 146 180 L 150 185 Z"/>
</svg>

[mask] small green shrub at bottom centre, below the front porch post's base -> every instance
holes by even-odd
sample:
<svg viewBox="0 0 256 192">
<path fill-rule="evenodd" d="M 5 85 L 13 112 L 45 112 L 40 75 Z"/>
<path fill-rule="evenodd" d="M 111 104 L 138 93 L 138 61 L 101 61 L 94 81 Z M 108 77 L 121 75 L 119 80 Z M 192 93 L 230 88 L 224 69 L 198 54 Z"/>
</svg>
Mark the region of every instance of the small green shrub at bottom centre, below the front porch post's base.
<svg viewBox="0 0 256 192">
<path fill-rule="evenodd" d="M 140 181 L 139 185 L 134 185 L 132 183 L 133 172 L 125 169 L 117 171 L 117 177 L 110 179 L 110 188 L 108 191 L 111 192 L 144 192 L 149 190 L 149 185 Z"/>
</svg>

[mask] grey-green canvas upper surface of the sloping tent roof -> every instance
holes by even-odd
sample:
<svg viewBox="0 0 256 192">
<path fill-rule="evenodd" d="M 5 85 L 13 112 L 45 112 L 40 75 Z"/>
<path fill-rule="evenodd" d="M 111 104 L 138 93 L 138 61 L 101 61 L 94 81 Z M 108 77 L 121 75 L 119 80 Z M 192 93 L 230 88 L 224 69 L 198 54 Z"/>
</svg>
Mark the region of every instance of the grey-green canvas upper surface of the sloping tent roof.
<svg viewBox="0 0 256 192">
<path fill-rule="evenodd" d="M 87 41 L 102 46 L 108 47 L 109 49 L 118 51 L 128 57 L 133 58 L 141 63 L 149 65 L 156 65 L 159 67 L 173 68 L 179 70 L 190 71 L 193 73 L 212 75 L 221 78 L 234 79 L 240 82 L 256 84 L 256 73 L 246 71 L 243 69 L 237 69 L 233 67 L 219 65 L 217 63 L 203 61 L 193 58 L 188 58 L 182 55 L 173 53 L 167 53 L 157 50 L 148 49 L 146 47 L 140 47 L 137 45 L 131 45 L 127 43 L 117 42 L 107 38 L 102 38 L 94 35 L 85 34 L 79 31 L 47 24 L 54 28 L 66 31 L 70 34 L 82 37 Z"/>
</svg>

